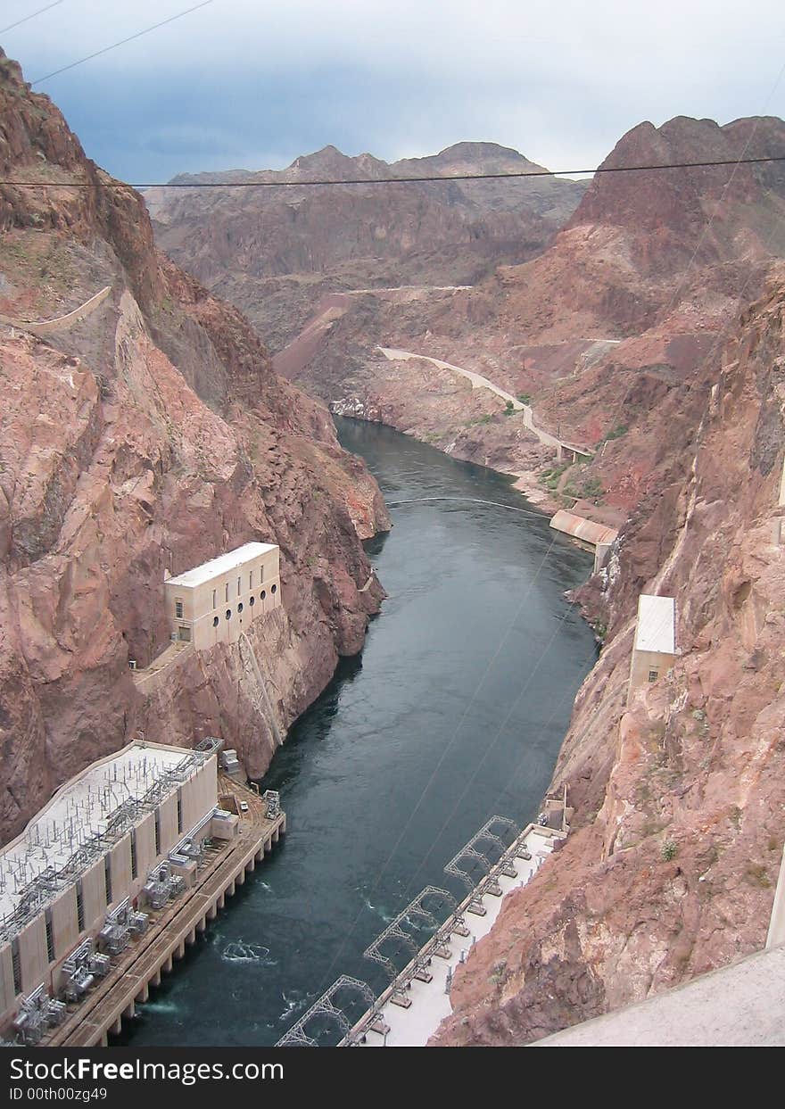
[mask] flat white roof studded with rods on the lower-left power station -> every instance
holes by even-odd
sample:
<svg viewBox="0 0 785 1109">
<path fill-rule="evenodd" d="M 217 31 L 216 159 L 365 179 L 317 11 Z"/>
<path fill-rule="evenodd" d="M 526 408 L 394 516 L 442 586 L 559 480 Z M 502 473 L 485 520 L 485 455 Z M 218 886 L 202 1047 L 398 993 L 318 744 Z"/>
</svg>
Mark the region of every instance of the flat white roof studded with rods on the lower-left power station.
<svg viewBox="0 0 785 1109">
<path fill-rule="evenodd" d="M 131 743 L 62 785 L 21 835 L 0 851 L 0 924 L 21 907 L 27 888 L 45 871 L 74 865 L 80 851 L 91 865 L 120 833 L 143 820 L 149 810 L 137 803 L 145 795 L 160 803 L 204 759 L 201 752 L 183 747 Z M 103 843 L 98 836 L 104 836 Z M 72 881 L 78 876 L 74 871 Z M 58 884 L 52 884 L 53 891 Z"/>
</svg>

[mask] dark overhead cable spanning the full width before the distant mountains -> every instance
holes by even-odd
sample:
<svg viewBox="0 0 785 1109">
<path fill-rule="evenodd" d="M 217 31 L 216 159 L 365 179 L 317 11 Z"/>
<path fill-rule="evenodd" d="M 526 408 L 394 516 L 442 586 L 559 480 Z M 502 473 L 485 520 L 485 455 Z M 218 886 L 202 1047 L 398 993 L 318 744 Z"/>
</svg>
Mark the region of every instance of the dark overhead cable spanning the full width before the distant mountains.
<svg viewBox="0 0 785 1109">
<path fill-rule="evenodd" d="M 212 2 L 212 0 L 207 0 Z M 176 18 L 176 17 L 173 17 Z M 708 162 L 655 162 L 640 165 L 598 165 L 579 170 L 513 170 L 509 173 L 448 173 L 411 177 L 318 177 L 305 181 L 0 181 L 18 189 L 310 189 L 329 185 L 414 185 L 450 181 L 521 181 L 527 177 L 565 177 L 570 174 L 651 173 L 659 170 L 702 170 L 722 166 L 785 162 L 785 154 L 764 157 L 715 159 Z M 283 172 L 283 171 L 275 171 Z"/>
</svg>

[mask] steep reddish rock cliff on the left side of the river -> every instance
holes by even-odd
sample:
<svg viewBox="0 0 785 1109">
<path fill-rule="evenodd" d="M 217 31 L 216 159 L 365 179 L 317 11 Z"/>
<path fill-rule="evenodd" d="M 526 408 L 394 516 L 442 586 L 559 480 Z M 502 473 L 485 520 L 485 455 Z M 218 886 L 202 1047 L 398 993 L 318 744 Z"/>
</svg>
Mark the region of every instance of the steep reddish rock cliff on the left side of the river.
<svg viewBox="0 0 785 1109">
<path fill-rule="evenodd" d="M 90 162 L 0 57 L 0 834 L 143 731 L 206 734 L 261 774 L 276 733 L 364 641 L 381 588 L 360 540 L 389 526 L 326 409 L 281 380 L 241 313 L 157 253 L 141 197 Z M 248 539 L 282 550 L 283 608 L 237 648 L 129 669 L 167 643 L 166 571 Z M 368 584 L 370 580 L 370 583 Z M 367 588 L 364 588 L 366 587 Z M 267 708 L 272 704 L 272 714 Z"/>
</svg>

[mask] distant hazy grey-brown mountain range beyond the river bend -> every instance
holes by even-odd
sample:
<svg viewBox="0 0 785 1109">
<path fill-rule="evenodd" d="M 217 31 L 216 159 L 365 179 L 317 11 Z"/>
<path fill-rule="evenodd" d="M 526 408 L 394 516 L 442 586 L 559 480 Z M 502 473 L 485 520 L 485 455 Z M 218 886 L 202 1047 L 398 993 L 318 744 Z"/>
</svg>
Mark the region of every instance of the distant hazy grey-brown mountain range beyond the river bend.
<svg viewBox="0 0 785 1109">
<path fill-rule="evenodd" d="M 281 171 L 183 174 L 174 183 L 215 187 L 151 189 L 145 201 L 162 248 L 246 312 L 277 352 L 330 293 L 469 285 L 500 263 L 533 257 L 585 191 L 583 183 L 548 176 L 512 187 L 496 181 L 374 181 L 538 170 L 496 143 L 458 143 L 431 157 L 391 164 L 326 146 Z M 368 185 L 297 187 L 299 181 L 339 180 Z M 221 189 L 226 181 L 281 187 Z"/>
</svg>

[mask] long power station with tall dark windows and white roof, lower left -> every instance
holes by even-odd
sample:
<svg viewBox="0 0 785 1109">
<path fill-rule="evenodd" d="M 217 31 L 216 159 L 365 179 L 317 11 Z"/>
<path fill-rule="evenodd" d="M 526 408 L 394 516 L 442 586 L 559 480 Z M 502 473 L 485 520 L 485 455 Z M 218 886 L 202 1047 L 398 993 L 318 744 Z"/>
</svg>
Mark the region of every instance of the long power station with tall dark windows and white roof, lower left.
<svg viewBox="0 0 785 1109">
<path fill-rule="evenodd" d="M 202 841 L 237 834 L 217 807 L 220 746 L 131 743 L 71 779 L 0 851 L 0 1035 L 42 1014 L 57 1022 L 146 928 L 144 909 L 193 883 Z"/>
</svg>

